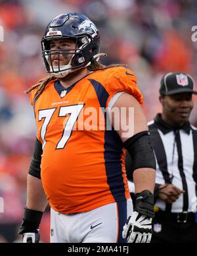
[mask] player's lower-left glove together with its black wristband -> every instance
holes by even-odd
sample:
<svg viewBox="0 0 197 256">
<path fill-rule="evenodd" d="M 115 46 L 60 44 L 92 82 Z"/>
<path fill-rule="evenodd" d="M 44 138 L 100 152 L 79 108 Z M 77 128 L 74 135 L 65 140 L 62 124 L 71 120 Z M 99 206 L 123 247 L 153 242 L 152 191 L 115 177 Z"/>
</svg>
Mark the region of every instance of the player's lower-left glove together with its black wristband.
<svg viewBox="0 0 197 256">
<path fill-rule="evenodd" d="M 39 243 L 39 224 L 43 213 L 30 209 L 24 210 L 24 217 L 18 234 L 22 234 L 23 243 Z"/>
</svg>

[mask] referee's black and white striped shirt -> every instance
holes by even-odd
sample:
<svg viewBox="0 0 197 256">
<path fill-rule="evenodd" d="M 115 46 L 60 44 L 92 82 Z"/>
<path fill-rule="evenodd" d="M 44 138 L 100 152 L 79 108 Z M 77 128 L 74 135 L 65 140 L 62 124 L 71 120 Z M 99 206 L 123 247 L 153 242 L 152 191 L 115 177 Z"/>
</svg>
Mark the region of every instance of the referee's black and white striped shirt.
<svg viewBox="0 0 197 256">
<path fill-rule="evenodd" d="M 156 155 L 156 184 L 171 183 L 185 193 L 172 205 L 157 199 L 163 211 L 180 213 L 196 209 L 197 128 L 187 122 L 179 130 L 168 126 L 161 115 L 148 123 Z"/>
</svg>

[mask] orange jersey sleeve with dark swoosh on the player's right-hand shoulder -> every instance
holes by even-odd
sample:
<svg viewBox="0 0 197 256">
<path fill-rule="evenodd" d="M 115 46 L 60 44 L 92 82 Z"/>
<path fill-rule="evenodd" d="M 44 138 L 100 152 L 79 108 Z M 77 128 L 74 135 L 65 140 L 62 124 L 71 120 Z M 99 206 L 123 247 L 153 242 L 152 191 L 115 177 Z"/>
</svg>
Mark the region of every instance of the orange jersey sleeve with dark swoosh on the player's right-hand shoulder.
<svg viewBox="0 0 197 256">
<path fill-rule="evenodd" d="M 137 87 L 137 78 L 129 68 L 124 68 L 121 66 L 116 67 L 114 68 L 113 72 L 110 72 L 108 78 L 106 90 L 110 96 L 108 97 L 106 106 L 108 106 L 112 96 L 120 91 L 133 95 L 133 97 L 135 97 L 135 99 L 137 99 L 137 101 L 139 101 L 139 103 L 142 105 L 143 96 Z"/>
</svg>

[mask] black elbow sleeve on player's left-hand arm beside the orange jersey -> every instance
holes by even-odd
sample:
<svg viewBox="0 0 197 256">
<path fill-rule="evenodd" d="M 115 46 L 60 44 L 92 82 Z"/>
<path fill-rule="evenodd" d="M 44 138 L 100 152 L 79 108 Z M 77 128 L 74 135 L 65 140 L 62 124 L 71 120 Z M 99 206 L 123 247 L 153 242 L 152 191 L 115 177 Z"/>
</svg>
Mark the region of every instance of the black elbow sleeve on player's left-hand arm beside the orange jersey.
<svg viewBox="0 0 197 256">
<path fill-rule="evenodd" d="M 33 152 L 32 161 L 30 164 L 29 174 L 36 177 L 41 178 L 41 155 L 43 153 L 42 144 L 39 140 L 36 139 L 35 141 L 35 149 Z"/>
</svg>

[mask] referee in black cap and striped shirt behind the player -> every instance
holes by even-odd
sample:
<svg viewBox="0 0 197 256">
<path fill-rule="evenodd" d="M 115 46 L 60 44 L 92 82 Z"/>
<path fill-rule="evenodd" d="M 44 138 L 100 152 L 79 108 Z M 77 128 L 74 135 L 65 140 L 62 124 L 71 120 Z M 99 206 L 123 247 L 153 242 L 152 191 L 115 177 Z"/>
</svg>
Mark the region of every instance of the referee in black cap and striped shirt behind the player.
<svg viewBox="0 0 197 256">
<path fill-rule="evenodd" d="M 162 113 L 149 123 L 156 156 L 155 218 L 153 243 L 197 242 L 197 128 L 188 121 L 194 103 L 194 80 L 171 72 L 161 80 Z M 132 161 L 126 170 L 131 179 Z M 130 192 L 135 192 L 129 182 Z"/>
</svg>

